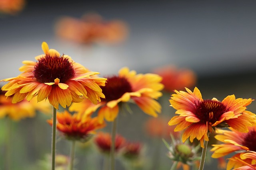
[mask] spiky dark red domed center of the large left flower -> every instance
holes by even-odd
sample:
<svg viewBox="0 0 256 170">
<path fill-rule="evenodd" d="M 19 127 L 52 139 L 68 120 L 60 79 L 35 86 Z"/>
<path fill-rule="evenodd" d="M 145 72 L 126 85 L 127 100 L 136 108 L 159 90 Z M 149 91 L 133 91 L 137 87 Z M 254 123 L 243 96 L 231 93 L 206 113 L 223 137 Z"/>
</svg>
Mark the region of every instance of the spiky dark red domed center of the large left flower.
<svg viewBox="0 0 256 170">
<path fill-rule="evenodd" d="M 74 75 L 73 64 L 63 56 L 51 57 L 46 54 L 34 66 L 34 77 L 40 83 L 54 82 L 56 78 L 60 79 L 61 83 L 64 83 L 73 78 Z"/>
</svg>

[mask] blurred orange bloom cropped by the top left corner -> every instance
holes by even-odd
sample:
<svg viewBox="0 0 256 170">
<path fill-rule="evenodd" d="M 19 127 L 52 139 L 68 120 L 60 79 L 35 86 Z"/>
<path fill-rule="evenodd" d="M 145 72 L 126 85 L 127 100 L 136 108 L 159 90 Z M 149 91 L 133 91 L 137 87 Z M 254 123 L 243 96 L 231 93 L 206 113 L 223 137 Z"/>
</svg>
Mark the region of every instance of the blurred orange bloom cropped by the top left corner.
<svg viewBox="0 0 256 170">
<path fill-rule="evenodd" d="M 0 13 L 15 15 L 25 7 L 25 0 L 0 0 Z"/>
</svg>

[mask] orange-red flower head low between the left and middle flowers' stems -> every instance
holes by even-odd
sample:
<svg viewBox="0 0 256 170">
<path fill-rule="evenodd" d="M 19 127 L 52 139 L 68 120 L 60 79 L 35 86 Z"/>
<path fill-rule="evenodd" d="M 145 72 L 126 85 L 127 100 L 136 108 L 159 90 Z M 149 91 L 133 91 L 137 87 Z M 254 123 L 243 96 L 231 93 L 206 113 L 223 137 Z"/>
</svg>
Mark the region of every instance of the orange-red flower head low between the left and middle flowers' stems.
<svg viewBox="0 0 256 170">
<path fill-rule="evenodd" d="M 61 113 L 57 112 L 56 117 L 56 128 L 66 139 L 70 140 L 87 141 L 92 134 L 96 133 L 97 129 L 106 126 L 106 123 L 98 121 L 98 117 L 92 118 L 76 113 L 71 115 L 67 110 Z M 52 125 L 52 119 L 48 120 L 48 123 Z"/>
</svg>

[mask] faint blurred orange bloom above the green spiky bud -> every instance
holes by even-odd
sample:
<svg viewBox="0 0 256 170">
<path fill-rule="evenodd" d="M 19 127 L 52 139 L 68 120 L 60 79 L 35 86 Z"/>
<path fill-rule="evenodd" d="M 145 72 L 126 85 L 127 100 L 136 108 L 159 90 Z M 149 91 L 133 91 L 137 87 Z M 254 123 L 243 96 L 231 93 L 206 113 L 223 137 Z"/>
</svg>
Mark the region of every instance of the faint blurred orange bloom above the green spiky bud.
<svg viewBox="0 0 256 170">
<path fill-rule="evenodd" d="M 145 130 L 151 137 L 170 139 L 170 134 L 174 138 L 180 136 L 180 132 L 174 132 L 174 127 L 168 125 L 168 118 L 150 117 L 145 123 Z"/>
</svg>

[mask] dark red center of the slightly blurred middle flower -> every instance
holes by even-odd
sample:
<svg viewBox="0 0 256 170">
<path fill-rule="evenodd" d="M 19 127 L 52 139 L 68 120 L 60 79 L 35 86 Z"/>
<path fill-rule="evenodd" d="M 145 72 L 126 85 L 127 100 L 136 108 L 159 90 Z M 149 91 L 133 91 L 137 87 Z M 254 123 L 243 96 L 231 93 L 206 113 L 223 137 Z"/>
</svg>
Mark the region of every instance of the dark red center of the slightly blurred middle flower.
<svg viewBox="0 0 256 170">
<path fill-rule="evenodd" d="M 106 86 L 101 87 L 106 102 L 119 99 L 124 93 L 132 92 L 132 86 L 125 77 L 107 78 Z"/>
</svg>

